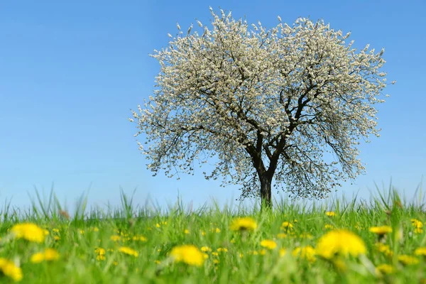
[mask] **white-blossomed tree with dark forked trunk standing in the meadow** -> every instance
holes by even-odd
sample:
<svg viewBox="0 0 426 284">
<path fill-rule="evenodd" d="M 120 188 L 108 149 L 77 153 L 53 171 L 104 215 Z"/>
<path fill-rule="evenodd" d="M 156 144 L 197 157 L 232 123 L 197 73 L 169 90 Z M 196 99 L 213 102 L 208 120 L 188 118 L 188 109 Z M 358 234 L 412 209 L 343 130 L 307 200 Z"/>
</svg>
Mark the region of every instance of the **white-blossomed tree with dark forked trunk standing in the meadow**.
<svg viewBox="0 0 426 284">
<path fill-rule="evenodd" d="M 213 16 L 212 30 L 185 32 L 151 55 L 160 63 L 155 97 L 129 119 L 146 135 L 155 174 L 194 173 L 195 160 L 219 162 L 204 177 L 242 186 L 241 197 L 271 205 L 271 184 L 295 197 L 321 198 L 365 168 L 360 138 L 373 134 L 373 107 L 386 87 L 383 49 L 359 52 L 350 33 L 297 18 L 266 29 Z M 332 157 L 327 160 L 324 157 Z M 154 175 L 155 175 L 154 174 Z M 229 178 L 229 179 L 228 179 Z"/>
</svg>

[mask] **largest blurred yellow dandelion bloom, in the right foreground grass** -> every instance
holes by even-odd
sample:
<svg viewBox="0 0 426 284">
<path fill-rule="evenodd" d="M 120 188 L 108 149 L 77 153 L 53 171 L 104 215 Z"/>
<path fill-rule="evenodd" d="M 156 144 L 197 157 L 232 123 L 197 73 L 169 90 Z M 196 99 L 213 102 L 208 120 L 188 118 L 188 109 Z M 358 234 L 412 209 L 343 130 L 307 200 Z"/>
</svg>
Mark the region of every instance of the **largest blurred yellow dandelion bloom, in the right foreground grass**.
<svg viewBox="0 0 426 284">
<path fill-rule="evenodd" d="M 332 258 L 335 254 L 359 256 L 366 253 L 366 245 L 351 231 L 339 229 L 324 234 L 318 240 L 315 251 L 323 258 Z"/>
</svg>

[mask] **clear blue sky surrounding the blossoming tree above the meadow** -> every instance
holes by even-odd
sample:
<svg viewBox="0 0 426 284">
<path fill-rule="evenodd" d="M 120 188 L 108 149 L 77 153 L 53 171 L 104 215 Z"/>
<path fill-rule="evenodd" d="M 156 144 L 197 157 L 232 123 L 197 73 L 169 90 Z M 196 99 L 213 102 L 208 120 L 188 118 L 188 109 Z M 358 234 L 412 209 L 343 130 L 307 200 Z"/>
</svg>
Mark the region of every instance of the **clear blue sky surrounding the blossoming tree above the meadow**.
<svg viewBox="0 0 426 284">
<path fill-rule="evenodd" d="M 219 187 L 195 175 L 152 177 L 133 137 L 130 109 L 153 94 L 158 61 L 148 56 L 168 45 L 176 22 L 186 31 L 209 6 L 234 18 L 271 27 L 277 16 L 323 18 L 351 31 L 357 48 L 386 48 L 391 97 L 378 106 L 381 137 L 361 143 L 366 175 L 339 194 L 368 198 L 374 182 L 411 197 L 426 173 L 425 1 L 1 1 L 0 204 L 30 204 L 34 185 L 72 207 L 90 187 L 89 204 L 119 204 L 119 188 L 136 203 L 165 205 L 178 191 L 195 207 L 239 197 L 238 186 Z M 209 26 L 210 27 L 210 26 Z M 214 161 L 212 161 L 214 163 Z M 424 182 L 423 182 L 424 183 Z M 275 197 L 277 195 L 275 194 Z M 1 206 L 0 206 L 1 207 Z"/>
</svg>

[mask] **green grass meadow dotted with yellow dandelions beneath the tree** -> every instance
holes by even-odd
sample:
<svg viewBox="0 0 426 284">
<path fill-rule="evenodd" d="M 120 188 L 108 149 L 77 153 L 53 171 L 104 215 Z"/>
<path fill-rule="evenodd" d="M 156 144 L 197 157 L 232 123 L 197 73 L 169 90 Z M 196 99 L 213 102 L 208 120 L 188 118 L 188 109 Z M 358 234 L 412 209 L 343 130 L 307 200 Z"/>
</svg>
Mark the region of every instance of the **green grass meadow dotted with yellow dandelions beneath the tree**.
<svg viewBox="0 0 426 284">
<path fill-rule="evenodd" d="M 420 192 L 167 213 L 121 192 L 119 209 L 82 196 L 72 216 L 37 192 L 31 209 L 1 210 L 0 283 L 426 283 Z"/>
</svg>

